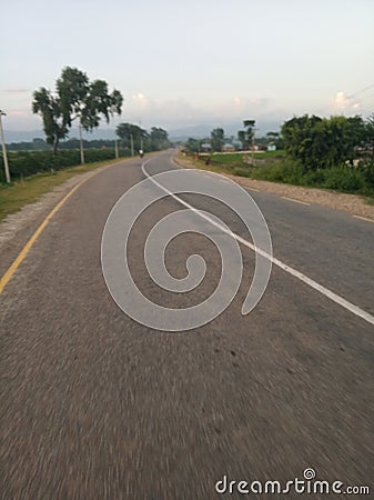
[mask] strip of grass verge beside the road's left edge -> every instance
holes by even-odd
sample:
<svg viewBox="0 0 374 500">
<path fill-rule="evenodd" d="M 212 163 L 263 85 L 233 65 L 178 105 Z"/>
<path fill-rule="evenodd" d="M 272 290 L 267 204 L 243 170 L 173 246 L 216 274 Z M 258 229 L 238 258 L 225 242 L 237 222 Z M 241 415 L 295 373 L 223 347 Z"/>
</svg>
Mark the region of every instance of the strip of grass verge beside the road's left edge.
<svg viewBox="0 0 374 500">
<path fill-rule="evenodd" d="M 123 158 L 119 161 L 123 161 Z M 9 186 L 0 184 L 0 221 L 10 213 L 18 212 L 26 204 L 39 200 L 42 194 L 62 184 L 68 179 L 114 162 L 115 160 L 98 161 L 61 169 L 53 173 L 37 173 Z"/>
</svg>

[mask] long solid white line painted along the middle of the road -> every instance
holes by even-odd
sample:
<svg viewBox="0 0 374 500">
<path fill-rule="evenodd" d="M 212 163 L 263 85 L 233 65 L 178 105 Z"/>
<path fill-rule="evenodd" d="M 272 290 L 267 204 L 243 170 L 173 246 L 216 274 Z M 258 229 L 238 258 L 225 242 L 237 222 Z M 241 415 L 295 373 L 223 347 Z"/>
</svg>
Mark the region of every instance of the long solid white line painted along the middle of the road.
<svg viewBox="0 0 374 500">
<path fill-rule="evenodd" d="M 283 271 L 287 272 L 289 274 L 292 274 L 293 277 L 297 278 L 300 281 L 303 281 L 304 283 L 309 284 L 314 290 L 319 291 L 323 296 L 327 297 L 333 302 L 337 303 L 342 308 L 346 309 L 347 311 L 352 312 L 353 314 L 362 318 L 363 320 L 367 321 L 371 324 L 374 324 L 374 317 L 370 314 L 368 312 L 364 311 L 363 309 L 358 308 L 358 306 L 355 306 L 354 303 L 350 302 L 348 300 L 345 300 L 343 297 L 338 296 L 337 293 L 334 293 L 333 291 L 328 290 L 327 288 L 323 287 L 323 284 L 317 283 L 316 281 L 312 280 L 312 278 L 309 278 L 307 276 L 303 274 L 302 272 L 297 271 L 296 269 L 291 268 L 290 266 L 285 264 L 281 260 L 276 259 L 275 257 L 269 254 L 267 252 L 264 252 L 260 248 L 255 248 L 250 241 L 245 240 L 244 238 L 240 237 L 239 234 L 228 230 L 223 226 L 215 222 L 213 219 L 211 219 L 209 216 L 201 213 L 199 209 L 193 207 L 192 204 L 188 203 L 186 201 L 179 198 L 176 194 L 169 191 L 169 189 L 164 188 L 162 184 L 160 184 L 156 180 L 150 176 L 144 167 L 145 164 L 151 161 L 148 160 L 142 164 L 142 172 L 144 176 L 150 179 L 155 186 L 158 186 L 160 189 L 162 189 L 165 193 L 174 198 L 179 203 L 183 204 L 184 207 L 189 208 L 193 212 L 195 212 L 199 217 L 202 219 L 208 220 L 211 224 L 219 228 L 221 231 L 225 232 L 226 234 L 230 234 L 231 237 L 235 238 L 236 241 L 244 244 L 244 247 L 250 248 L 254 252 L 259 252 L 260 256 L 264 257 L 265 259 L 270 260 L 273 264 L 281 268 Z"/>
</svg>

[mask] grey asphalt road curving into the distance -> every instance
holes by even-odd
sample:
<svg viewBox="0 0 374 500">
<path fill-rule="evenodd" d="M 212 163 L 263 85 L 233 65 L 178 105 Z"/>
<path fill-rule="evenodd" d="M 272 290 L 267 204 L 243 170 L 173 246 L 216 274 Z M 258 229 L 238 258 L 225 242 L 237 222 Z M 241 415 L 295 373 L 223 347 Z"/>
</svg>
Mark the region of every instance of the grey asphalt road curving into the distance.
<svg viewBox="0 0 374 500">
<path fill-rule="evenodd" d="M 171 152 L 145 166 L 149 174 L 175 168 Z M 285 484 L 306 468 L 373 492 L 373 324 L 277 266 L 242 316 L 254 269 L 243 246 L 242 283 L 215 320 L 179 333 L 133 321 L 108 291 L 100 247 L 112 207 L 142 179 L 133 160 L 83 183 L 0 297 L 1 498 L 206 500 L 226 498 L 215 491 L 224 476 Z M 374 316 L 374 224 L 251 194 L 275 258 Z M 226 208 L 181 198 L 247 238 Z M 154 223 L 180 209 L 170 197 L 152 206 L 129 252 L 139 287 L 173 308 L 185 307 L 183 294 L 160 292 L 142 256 Z M 188 233 L 170 247 L 175 277 L 192 252 L 206 261 L 206 279 L 186 300 L 211 293 L 221 272 L 212 243 Z"/>
</svg>

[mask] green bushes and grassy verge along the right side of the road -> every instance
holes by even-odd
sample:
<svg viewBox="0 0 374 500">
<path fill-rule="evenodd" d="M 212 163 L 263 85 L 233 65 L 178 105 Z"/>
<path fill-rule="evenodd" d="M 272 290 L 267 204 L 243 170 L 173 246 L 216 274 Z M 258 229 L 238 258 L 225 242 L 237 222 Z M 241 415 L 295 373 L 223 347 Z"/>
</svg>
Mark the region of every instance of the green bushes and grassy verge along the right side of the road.
<svg viewBox="0 0 374 500">
<path fill-rule="evenodd" d="M 237 133 L 246 141 L 246 148 L 253 141 L 253 128 L 254 122 L 251 122 L 250 131 Z M 216 132 L 213 132 L 215 141 L 211 143 L 216 144 Z M 189 139 L 184 154 L 192 157 L 196 168 L 374 199 L 374 116 L 366 120 L 360 116 L 294 117 L 282 126 L 281 133 L 270 132 L 262 139 L 256 140 L 261 147 L 255 151 L 234 153 L 222 153 L 213 148 L 202 151 L 196 140 Z M 266 143 L 283 149 L 264 151 Z M 208 140 L 202 144 L 206 148 Z"/>
</svg>

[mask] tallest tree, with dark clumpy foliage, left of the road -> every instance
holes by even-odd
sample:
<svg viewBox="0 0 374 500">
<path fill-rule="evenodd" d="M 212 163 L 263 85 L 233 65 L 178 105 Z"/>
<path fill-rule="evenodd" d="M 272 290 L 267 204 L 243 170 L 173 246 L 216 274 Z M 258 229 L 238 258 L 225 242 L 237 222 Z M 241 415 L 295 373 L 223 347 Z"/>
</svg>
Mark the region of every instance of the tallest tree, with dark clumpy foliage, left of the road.
<svg viewBox="0 0 374 500">
<path fill-rule="evenodd" d="M 33 92 L 32 111 L 42 117 L 47 142 L 53 146 L 55 154 L 74 120 L 79 119 L 83 130 L 92 131 L 102 116 L 109 122 L 114 113 L 121 114 L 122 103 L 121 92 L 109 93 L 104 80 L 90 82 L 78 68 L 65 67 L 57 80 L 55 92 L 44 87 Z"/>
</svg>

